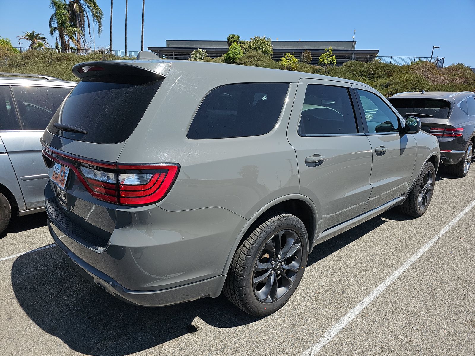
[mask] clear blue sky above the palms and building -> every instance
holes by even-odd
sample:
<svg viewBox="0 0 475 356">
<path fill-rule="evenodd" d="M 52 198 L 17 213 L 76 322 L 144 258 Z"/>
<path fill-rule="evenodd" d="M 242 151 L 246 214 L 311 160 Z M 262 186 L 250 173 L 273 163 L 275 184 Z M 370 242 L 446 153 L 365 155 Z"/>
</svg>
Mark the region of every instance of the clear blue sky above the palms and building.
<svg viewBox="0 0 475 356">
<path fill-rule="evenodd" d="M 108 46 L 110 0 L 96 47 Z M 123 50 L 125 0 L 114 0 L 113 49 Z M 49 0 L 0 0 L 0 36 L 24 31 L 48 33 Z M 273 40 L 352 40 L 356 48 L 379 49 L 380 56 L 446 57 L 446 65 L 475 67 L 475 0 L 340 1 L 163 1 L 145 0 L 144 47 L 166 39 L 226 39 L 237 33 Z M 142 0 L 129 0 L 128 50 L 140 50 Z M 16 44 L 18 46 L 18 44 Z"/>
</svg>

